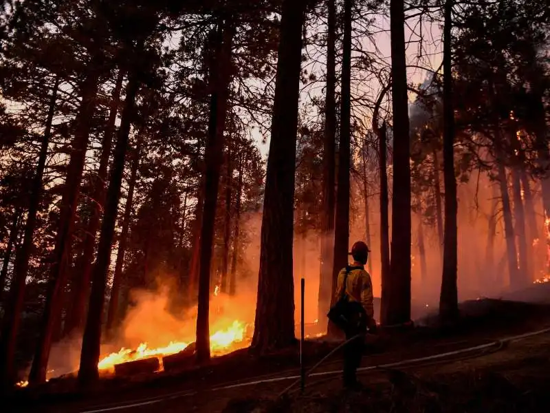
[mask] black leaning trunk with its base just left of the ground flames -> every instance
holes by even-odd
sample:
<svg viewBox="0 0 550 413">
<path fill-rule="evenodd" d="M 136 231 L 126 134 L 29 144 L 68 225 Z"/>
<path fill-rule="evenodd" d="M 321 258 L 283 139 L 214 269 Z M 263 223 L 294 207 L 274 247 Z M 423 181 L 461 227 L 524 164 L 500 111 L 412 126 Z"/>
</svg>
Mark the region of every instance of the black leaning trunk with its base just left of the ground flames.
<svg viewBox="0 0 550 413">
<path fill-rule="evenodd" d="M 143 47 L 138 45 L 138 51 Z M 124 158 L 128 149 L 131 121 L 134 116 L 135 96 L 140 88 L 139 72 L 135 69 L 126 85 L 126 99 L 120 122 L 120 129 L 115 145 L 113 167 L 107 189 L 105 214 L 101 224 L 101 233 L 98 245 L 98 256 L 94 265 L 88 316 L 84 330 L 82 352 L 80 352 L 80 369 L 78 380 L 87 384 L 98 379 L 98 362 L 100 357 L 101 326 L 105 301 L 105 289 L 107 288 L 107 274 L 111 262 L 111 247 L 115 233 L 115 222 L 118 213 L 118 201 L 120 200 L 120 187 L 124 173 Z"/>
</svg>

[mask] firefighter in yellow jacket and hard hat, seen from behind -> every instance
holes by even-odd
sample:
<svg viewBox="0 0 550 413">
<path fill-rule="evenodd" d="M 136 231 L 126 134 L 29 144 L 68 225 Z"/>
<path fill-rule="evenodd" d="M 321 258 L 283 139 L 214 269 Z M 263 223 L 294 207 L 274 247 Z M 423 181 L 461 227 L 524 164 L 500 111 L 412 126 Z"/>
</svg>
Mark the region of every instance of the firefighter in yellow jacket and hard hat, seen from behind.
<svg viewBox="0 0 550 413">
<path fill-rule="evenodd" d="M 344 332 L 346 340 L 351 340 L 344 346 L 344 387 L 357 389 L 360 383 L 357 381 L 356 373 L 361 364 L 362 353 L 364 349 L 364 334 L 367 328 L 375 330 L 376 322 L 374 320 L 373 306 L 373 283 L 371 275 L 365 271 L 364 266 L 369 258 L 369 247 L 362 241 L 355 242 L 351 248 L 351 257 L 353 264 L 342 268 L 338 274 L 338 287 L 336 288 L 336 297 L 347 295 L 349 301 L 356 301 L 361 304 L 360 308 L 364 310 L 364 322 L 347 328 Z M 346 274 L 347 273 L 347 274 Z M 346 285 L 344 286 L 344 279 Z"/>
</svg>

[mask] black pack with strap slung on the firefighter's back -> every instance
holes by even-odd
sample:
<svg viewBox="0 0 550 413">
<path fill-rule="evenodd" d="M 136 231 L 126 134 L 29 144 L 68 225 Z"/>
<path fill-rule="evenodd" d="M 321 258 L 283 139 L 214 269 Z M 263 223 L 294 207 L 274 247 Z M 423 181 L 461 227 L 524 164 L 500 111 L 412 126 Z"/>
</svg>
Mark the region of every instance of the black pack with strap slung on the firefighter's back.
<svg viewBox="0 0 550 413">
<path fill-rule="evenodd" d="M 358 301 L 351 301 L 346 294 L 349 272 L 355 268 L 358 267 L 351 268 L 350 266 L 346 266 L 342 295 L 327 314 L 329 320 L 344 332 L 360 331 L 366 329 L 367 325 L 366 311 L 361 303 Z"/>
</svg>

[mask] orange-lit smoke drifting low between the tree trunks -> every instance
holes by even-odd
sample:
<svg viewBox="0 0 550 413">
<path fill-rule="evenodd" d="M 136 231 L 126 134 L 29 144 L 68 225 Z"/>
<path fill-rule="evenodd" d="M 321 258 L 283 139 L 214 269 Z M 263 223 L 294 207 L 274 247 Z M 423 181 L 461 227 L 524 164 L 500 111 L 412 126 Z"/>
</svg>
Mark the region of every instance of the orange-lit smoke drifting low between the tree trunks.
<svg viewBox="0 0 550 413">
<path fill-rule="evenodd" d="M 458 286 L 459 299 L 500 297 L 509 290 L 505 232 L 502 208 L 495 209 L 498 191 L 492 182 L 481 175 L 478 181 L 461 183 L 458 187 Z M 533 188 L 533 192 L 536 188 Z M 357 240 L 366 241 L 364 206 L 351 215 L 349 246 Z M 380 205 L 376 197 L 369 198 L 370 239 L 373 251 L 369 256 L 375 297 L 380 297 Z M 496 211 L 496 229 L 490 231 L 489 217 Z M 392 211 L 390 211 L 390 214 Z M 444 217 L 444 211 L 441 211 Z M 533 263 L 533 279 L 544 271 L 546 253 L 544 213 L 540 202 L 535 205 L 538 242 L 527 240 L 529 260 Z M 390 215 L 391 216 L 391 215 Z M 391 220 L 390 220 L 391 223 Z M 422 221 L 425 253 L 419 249 L 419 215 L 412 213 L 412 312 L 419 319 L 437 309 L 442 274 L 442 247 L 437 225 Z M 220 294 L 210 301 L 210 334 L 231 326 L 234 321 L 254 323 L 256 290 L 261 246 L 261 213 L 241 217 L 241 257 L 237 265 L 236 295 Z M 391 228 L 390 228 L 391 235 Z M 543 256 L 544 255 L 544 256 Z M 491 258 L 492 257 L 492 262 Z M 423 265 L 425 262 L 425 266 Z M 296 234 L 294 237 L 294 302 L 295 320 L 300 323 L 300 279 L 305 279 L 305 323 L 318 319 L 318 290 L 320 278 L 320 235 L 318 231 Z M 120 348 L 136 348 L 147 343 L 149 348 L 167 346 L 170 342 L 195 341 L 197 308 L 179 310 L 170 308 L 173 286 L 170 275 L 164 275 L 155 290 L 133 290 L 133 306 L 126 312 L 118 337 L 102 343 L 101 354 L 117 352 Z M 375 315 L 376 317 L 377 315 Z M 324 326 L 326 319 L 318 320 Z M 248 331 L 251 334 L 252 328 Z M 50 357 L 50 375 L 57 376 L 78 369 L 80 338 L 67 338 L 56 343 Z"/>
</svg>

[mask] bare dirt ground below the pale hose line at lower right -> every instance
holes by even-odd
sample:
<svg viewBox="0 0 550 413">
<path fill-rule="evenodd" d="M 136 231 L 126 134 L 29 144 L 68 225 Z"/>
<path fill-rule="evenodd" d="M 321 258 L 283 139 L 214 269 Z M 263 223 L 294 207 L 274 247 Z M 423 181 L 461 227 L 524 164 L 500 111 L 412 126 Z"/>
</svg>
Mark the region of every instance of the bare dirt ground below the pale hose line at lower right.
<svg viewBox="0 0 550 413">
<path fill-rule="evenodd" d="M 550 334 L 475 358 L 364 374 L 361 379 L 360 392 L 342 390 L 339 377 L 334 377 L 311 381 L 303 394 L 294 392 L 279 401 L 232 399 L 221 411 L 550 412 Z"/>
</svg>

